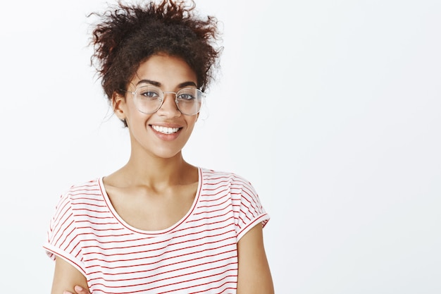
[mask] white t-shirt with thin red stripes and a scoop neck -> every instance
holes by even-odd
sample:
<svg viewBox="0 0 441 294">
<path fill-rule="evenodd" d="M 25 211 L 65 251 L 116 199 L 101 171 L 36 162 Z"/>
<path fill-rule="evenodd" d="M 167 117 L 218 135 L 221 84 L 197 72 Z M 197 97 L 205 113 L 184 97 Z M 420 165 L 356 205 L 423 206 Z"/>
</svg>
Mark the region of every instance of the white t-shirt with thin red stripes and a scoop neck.
<svg viewBox="0 0 441 294">
<path fill-rule="evenodd" d="M 237 242 L 268 219 L 247 180 L 199 169 L 189 212 L 142 231 L 118 216 L 98 178 L 61 195 L 44 248 L 84 274 L 93 294 L 236 293 Z"/>
</svg>

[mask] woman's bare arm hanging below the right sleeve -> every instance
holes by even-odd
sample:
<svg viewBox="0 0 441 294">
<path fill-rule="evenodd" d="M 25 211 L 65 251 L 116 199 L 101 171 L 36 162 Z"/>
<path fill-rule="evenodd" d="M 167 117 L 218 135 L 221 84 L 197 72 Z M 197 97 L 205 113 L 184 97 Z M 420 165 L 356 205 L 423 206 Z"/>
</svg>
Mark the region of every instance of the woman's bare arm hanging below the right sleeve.
<svg viewBox="0 0 441 294">
<path fill-rule="evenodd" d="M 273 294 L 271 271 L 263 247 L 261 223 L 251 228 L 237 243 L 238 294 Z"/>
</svg>

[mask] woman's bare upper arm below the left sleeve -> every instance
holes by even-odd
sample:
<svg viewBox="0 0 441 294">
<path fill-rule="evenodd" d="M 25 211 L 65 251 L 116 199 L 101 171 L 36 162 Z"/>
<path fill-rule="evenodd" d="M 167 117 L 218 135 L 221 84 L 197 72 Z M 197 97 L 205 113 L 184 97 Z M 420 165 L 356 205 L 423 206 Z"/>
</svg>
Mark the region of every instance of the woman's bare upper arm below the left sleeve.
<svg viewBox="0 0 441 294">
<path fill-rule="evenodd" d="M 61 257 L 55 259 L 54 281 L 52 283 L 51 294 L 62 294 L 64 290 L 73 290 L 74 285 L 79 285 L 84 289 L 89 289 L 87 286 L 86 277 L 80 273 L 75 267 L 66 262 Z"/>
</svg>

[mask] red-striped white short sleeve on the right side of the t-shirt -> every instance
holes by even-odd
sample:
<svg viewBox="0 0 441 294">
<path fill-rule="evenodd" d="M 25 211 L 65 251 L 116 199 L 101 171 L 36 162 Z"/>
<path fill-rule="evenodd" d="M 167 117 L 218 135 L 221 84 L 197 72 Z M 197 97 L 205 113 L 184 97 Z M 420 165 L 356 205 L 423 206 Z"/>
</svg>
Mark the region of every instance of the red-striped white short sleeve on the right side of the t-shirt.
<svg viewBox="0 0 441 294">
<path fill-rule="evenodd" d="M 239 177 L 236 187 L 237 191 L 232 194 L 234 194 L 233 197 L 236 198 L 237 202 L 237 205 L 235 205 L 235 221 L 237 241 L 239 241 L 258 223 L 261 223 L 264 227 L 270 217 L 263 209 L 259 195 L 249 181 Z"/>
</svg>

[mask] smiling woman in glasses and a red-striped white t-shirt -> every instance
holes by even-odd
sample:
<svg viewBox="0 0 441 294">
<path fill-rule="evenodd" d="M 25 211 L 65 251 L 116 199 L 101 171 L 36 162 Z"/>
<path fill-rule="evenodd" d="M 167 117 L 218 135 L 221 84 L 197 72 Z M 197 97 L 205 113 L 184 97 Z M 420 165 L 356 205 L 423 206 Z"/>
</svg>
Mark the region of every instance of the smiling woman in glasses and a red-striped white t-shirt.
<svg viewBox="0 0 441 294">
<path fill-rule="evenodd" d="M 131 153 L 61 196 L 51 293 L 273 293 L 254 188 L 182 157 L 221 51 L 216 19 L 171 0 L 97 16 L 93 60 Z"/>
</svg>

